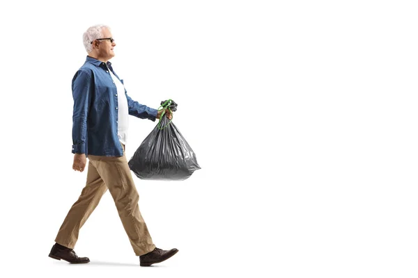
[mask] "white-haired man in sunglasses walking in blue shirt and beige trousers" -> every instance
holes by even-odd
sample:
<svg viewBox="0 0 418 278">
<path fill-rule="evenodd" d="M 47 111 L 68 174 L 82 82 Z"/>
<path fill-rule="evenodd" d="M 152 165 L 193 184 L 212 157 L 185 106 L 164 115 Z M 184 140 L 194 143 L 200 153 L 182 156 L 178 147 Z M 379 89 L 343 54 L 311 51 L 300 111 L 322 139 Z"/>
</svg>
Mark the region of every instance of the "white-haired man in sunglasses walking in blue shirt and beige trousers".
<svg viewBox="0 0 418 278">
<path fill-rule="evenodd" d="M 74 111 L 72 115 L 72 169 L 83 172 L 88 158 L 86 186 L 55 239 L 49 256 L 69 263 L 88 263 L 75 254 L 79 229 L 109 189 L 123 227 L 141 266 L 169 259 L 177 249 L 156 248 L 139 212 L 139 195 L 125 157 L 128 115 L 155 121 L 164 110 L 157 111 L 127 96 L 109 60 L 116 43 L 108 26 L 91 26 L 83 35 L 88 53 L 86 63 L 72 79 Z M 165 113 L 171 119 L 171 113 Z"/>
</svg>

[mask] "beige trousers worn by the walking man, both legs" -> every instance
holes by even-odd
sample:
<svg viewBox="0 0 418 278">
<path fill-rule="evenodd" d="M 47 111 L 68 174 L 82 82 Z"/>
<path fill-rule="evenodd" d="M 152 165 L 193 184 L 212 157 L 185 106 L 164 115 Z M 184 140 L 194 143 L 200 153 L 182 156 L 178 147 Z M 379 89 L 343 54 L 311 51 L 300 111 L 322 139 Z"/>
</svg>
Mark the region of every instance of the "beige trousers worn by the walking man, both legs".
<svg viewBox="0 0 418 278">
<path fill-rule="evenodd" d="M 79 229 L 98 206 L 107 189 L 114 199 L 135 254 L 141 256 L 153 251 L 155 245 L 139 212 L 139 195 L 127 165 L 125 146 L 123 156 L 88 156 L 86 187 L 68 211 L 55 242 L 74 249 Z"/>
</svg>

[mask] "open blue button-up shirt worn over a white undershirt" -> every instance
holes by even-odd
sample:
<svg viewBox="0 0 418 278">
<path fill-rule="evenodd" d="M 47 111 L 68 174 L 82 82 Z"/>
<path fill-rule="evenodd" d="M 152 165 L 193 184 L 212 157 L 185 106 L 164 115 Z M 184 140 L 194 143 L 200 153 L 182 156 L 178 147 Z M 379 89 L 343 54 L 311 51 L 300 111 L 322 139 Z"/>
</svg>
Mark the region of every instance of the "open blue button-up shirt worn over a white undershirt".
<svg viewBox="0 0 418 278">
<path fill-rule="evenodd" d="M 108 68 L 119 81 L 111 63 L 87 56 L 72 79 L 72 153 L 123 156 L 118 138 L 118 95 Z M 155 121 L 157 110 L 128 97 L 129 115 Z"/>
</svg>

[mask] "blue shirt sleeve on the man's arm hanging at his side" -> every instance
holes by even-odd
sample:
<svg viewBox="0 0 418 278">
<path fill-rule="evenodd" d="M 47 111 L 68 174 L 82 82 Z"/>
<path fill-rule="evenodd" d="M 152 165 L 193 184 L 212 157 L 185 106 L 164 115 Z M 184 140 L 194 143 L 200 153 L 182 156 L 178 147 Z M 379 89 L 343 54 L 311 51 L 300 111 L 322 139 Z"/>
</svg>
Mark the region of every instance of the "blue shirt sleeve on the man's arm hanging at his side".
<svg viewBox="0 0 418 278">
<path fill-rule="evenodd" d="M 72 79 L 72 153 L 86 153 L 87 117 L 91 103 L 91 74 L 79 70 Z"/>
</svg>

